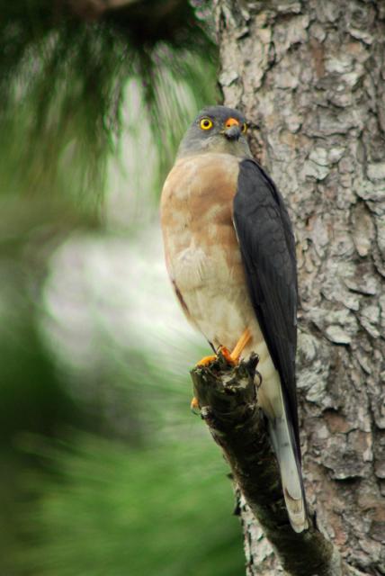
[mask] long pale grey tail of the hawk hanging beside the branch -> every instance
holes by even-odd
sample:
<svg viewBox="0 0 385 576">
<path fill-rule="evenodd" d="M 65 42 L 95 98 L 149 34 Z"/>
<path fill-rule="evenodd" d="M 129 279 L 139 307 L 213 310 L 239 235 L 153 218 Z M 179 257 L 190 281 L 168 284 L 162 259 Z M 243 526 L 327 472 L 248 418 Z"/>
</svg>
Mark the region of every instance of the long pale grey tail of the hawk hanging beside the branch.
<svg viewBox="0 0 385 576">
<path fill-rule="evenodd" d="M 285 405 L 282 398 L 283 407 Z M 288 510 L 291 527 L 295 532 L 302 532 L 309 527 L 305 491 L 300 468 L 300 458 L 296 447 L 294 431 L 282 410 L 282 416 L 268 419 L 273 448 L 280 464 L 283 497 Z"/>
</svg>

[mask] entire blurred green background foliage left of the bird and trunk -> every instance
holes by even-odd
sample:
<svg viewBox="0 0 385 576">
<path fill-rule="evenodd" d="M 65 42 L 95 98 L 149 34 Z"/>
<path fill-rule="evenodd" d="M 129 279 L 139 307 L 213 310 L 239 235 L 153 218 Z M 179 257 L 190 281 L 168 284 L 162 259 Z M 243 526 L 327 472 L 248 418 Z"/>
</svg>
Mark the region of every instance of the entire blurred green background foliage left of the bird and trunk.
<svg viewBox="0 0 385 576">
<path fill-rule="evenodd" d="M 123 189 L 136 183 L 121 241 L 142 241 L 137 201 L 156 226 L 161 177 L 185 126 L 218 97 L 210 3 L 101 6 L 0 5 L 0 574 L 237 576 L 227 467 L 188 410 L 188 366 L 201 350 L 186 345 L 178 356 L 176 334 L 162 364 L 164 334 L 148 347 L 130 324 L 131 338 L 119 336 L 116 287 L 93 293 L 102 273 L 73 282 L 90 245 L 101 269 L 101 245 L 130 269 L 112 257 L 117 229 L 105 226 L 116 157 L 129 166 Z M 56 254 L 74 231 L 69 276 Z M 50 317 L 55 286 L 61 324 Z M 76 301 L 78 290 L 94 308 Z M 96 320 L 85 336 L 71 333 L 85 309 Z M 75 341 L 81 366 L 55 330 Z"/>
</svg>

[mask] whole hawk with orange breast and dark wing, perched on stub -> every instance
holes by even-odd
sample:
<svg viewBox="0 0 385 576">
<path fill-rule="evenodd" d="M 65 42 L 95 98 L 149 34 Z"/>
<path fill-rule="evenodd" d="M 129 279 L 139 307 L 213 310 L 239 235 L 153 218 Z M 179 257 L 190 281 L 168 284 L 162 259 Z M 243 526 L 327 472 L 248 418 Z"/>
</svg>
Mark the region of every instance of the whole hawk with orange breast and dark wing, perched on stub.
<svg viewBox="0 0 385 576">
<path fill-rule="evenodd" d="M 234 365 L 253 352 L 259 357 L 257 400 L 291 527 L 300 533 L 309 524 L 295 376 L 295 239 L 281 193 L 251 153 L 247 127 L 241 112 L 216 105 L 186 131 L 161 195 L 166 268 L 187 320 L 215 353 Z"/>
</svg>

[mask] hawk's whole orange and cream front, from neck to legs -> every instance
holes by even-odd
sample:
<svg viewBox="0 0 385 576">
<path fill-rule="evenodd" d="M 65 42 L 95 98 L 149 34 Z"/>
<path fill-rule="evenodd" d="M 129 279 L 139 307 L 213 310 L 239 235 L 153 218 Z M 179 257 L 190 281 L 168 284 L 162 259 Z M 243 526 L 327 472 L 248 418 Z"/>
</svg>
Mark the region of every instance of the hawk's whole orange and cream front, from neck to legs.
<svg viewBox="0 0 385 576">
<path fill-rule="evenodd" d="M 205 154 L 175 165 L 161 220 L 166 264 L 186 316 L 212 342 L 228 346 L 245 329 L 250 303 L 232 205 L 238 160 Z"/>
</svg>

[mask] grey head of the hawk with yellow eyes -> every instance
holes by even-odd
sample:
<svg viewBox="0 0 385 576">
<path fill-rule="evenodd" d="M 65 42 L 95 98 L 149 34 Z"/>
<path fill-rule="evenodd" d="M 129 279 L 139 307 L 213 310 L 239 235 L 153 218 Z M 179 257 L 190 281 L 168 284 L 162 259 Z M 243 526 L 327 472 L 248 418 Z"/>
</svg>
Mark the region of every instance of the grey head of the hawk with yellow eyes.
<svg viewBox="0 0 385 576">
<path fill-rule="evenodd" d="M 199 112 L 184 134 L 177 157 L 205 152 L 252 157 L 246 140 L 246 119 L 226 106 L 208 106 Z"/>
</svg>

